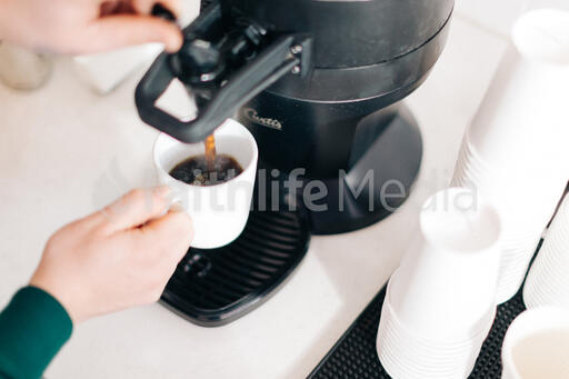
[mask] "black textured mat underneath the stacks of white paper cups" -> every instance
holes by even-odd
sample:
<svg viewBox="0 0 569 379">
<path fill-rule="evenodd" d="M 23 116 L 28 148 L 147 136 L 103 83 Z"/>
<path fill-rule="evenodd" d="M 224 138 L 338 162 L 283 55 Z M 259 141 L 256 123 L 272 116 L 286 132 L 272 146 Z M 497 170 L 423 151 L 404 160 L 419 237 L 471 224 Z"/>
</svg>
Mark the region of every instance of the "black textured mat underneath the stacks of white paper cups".
<svg viewBox="0 0 569 379">
<path fill-rule="evenodd" d="M 385 288 L 376 296 L 360 317 L 328 352 L 309 379 L 388 379 L 376 352 Z M 510 301 L 498 307 L 492 329 L 482 346 L 470 379 L 500 379 L 500 353 L 503 337 L 513 319 L 526 307 L 521 291 Z"/>
</svg>

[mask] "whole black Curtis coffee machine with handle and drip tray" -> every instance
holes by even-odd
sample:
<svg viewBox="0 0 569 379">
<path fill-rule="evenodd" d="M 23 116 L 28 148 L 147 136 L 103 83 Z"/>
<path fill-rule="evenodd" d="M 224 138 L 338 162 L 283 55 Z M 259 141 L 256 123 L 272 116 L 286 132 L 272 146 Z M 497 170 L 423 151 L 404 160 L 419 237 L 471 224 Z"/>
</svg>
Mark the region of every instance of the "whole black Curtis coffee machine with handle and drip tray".
<svg viewBox="0 0 569 379">
<path fill-rule="evenodd" d="M 201 326 L 231 322 L 286 282 L 311 235 L 365 228 L 402 205 L 422 142 L 401 100 L 438 60 L 452 9 L 453 0 L 202 2 L 181 50 L 142 78 L 137 108 L 183 142 L 236 118 L 258 142 L 259 174 L 243 233 L 221 249 L 190 249 L 164 305 Z M 196 101 L 194 120 L 156 106 L 174 79 Z M 300 186 L 288 186 L 291 177 Z"/>
</svg>

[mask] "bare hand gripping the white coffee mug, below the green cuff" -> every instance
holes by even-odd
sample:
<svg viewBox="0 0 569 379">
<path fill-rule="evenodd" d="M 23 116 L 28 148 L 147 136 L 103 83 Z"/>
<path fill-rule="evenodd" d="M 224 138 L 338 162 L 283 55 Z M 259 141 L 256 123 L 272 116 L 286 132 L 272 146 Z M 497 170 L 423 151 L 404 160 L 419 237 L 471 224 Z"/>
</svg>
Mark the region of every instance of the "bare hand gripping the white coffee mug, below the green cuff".
<svg viewBox="0 0 569 379">
<path fill-rule="evenodd" d="M 73 322 L 158 301 L 193 236 L 184 212 L 164 215 L 168 192 L 133 190 L 62 228 L 30 285 L 58 299 Z"/>
</svg>

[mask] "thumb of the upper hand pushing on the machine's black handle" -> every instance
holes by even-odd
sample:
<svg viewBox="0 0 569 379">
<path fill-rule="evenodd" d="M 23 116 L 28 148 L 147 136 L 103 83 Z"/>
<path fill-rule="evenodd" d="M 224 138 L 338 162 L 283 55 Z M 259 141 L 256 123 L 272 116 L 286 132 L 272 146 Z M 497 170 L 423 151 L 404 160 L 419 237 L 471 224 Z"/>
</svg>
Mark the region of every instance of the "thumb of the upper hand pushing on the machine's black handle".
<svg viewBox="0 0 569 379">
<path fill-rule="evenodd" d="M 161 42 L 169 52 L 178 51 L 183 42 L 181 30 L 170 21 L 140 14 L 103 17 L 87 30 L 90 52 L 128 46 Z"/>
</svg>

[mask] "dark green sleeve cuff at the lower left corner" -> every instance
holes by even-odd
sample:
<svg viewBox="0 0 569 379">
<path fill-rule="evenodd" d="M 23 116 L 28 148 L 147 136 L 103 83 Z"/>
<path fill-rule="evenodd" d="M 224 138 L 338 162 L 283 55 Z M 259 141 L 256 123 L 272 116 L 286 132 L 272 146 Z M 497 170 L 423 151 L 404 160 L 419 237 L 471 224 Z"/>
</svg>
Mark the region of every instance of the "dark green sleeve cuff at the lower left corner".
<svg viewBox="0 0 569 379">
<path fill-rule="evenodd" d="M 0 378 L 40 378 L 72 329 L 51 295 L 36 287 L 19 290 L 0 313 Z"/>
</svg>

